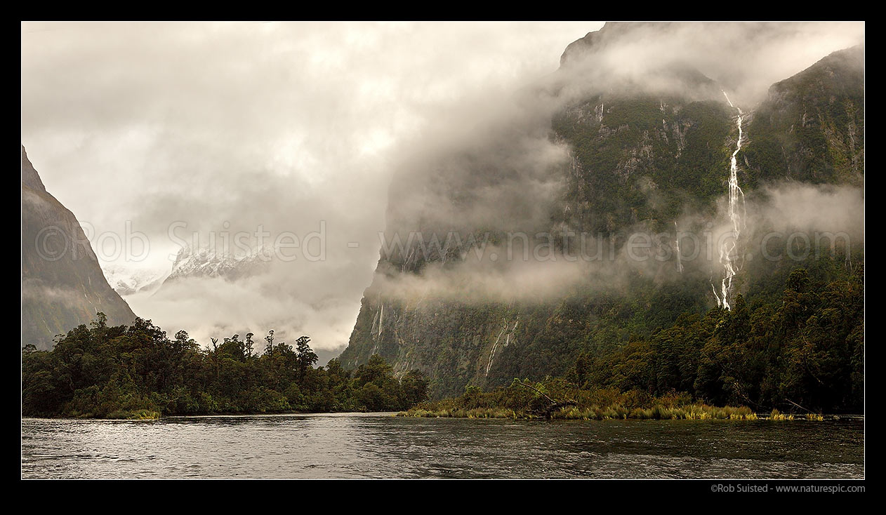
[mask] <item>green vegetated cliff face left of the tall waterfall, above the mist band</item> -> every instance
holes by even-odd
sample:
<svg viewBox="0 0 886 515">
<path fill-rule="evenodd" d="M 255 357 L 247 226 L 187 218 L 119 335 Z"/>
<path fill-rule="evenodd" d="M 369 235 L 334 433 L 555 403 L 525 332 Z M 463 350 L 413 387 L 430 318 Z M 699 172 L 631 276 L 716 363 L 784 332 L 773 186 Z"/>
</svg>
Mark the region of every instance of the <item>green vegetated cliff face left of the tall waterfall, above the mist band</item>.
<svg viewBox="0 0 886 515">
<path fill-rule="evenodd" d="M 577 161 L 564 221 L 609 233 L 640 220 L 670 226 L 688 205 L 710 207 L 729 166 L 731 116 L 723 102 L 678 97 L 598 96 L 564 110 L 552 125 Z"/>
</svg>

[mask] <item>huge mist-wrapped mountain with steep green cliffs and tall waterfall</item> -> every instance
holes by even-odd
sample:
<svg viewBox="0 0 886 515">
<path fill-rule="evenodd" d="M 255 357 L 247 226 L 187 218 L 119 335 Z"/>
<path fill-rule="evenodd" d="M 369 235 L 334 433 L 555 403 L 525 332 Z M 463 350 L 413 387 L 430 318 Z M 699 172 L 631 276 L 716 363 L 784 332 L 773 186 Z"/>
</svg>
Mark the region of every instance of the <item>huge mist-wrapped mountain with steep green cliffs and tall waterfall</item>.
<svg viewBox="0 0 886 515">
<path fill-rule="evenodd" d="M 709 260 L 679 262 L 674 234 L 725 225 L 719 199 L 738 191 L 729 185 L 733 154 L 749 195 L 785 180 L 863 180 L 862 50 L 837 52 L 773 85 L 766 102 L 739 118 L 715 81 L 676 60 L 644 77 L 666 88 L 606 81 L 597 53 L 643 28 L 607 24 L 567 48 L 554 86 L 563 104 L 546 127 L 509 126 L 395 177 L 386 238 L 405 244 L 383 248 L 342 365 L 381 355 L 398 373 L 423 371 L 435 397 L 563 375 L 579 357 L 610 355 L 717 305 L 723 258 L 715 250 Z M 568 158 L 539 165 L 535 150 L 551 150 L 546 142 L 565 146 Z M 591 234 L 592 248 L 618 258 L 580 274 L 562 258 L 560 268 L 512 273 L 521 264 L 509 270 L 495 259 L 514 228 L 536 250 L 547 238 L 557 254 L 575 249 L 574 234 Z M 671 236 L 625 259 L 625 235 L 637 231 Z M 447 238 L 453 233 L 458 241 Z M 466 265 L 481 237 L 495 255 Z M 665 251 L 670 258 L 654 257 Z M 796 263 L 753 261 L 758 281 L 736 276 L 730 300 L 753 299 L 759 281 L 783 286 L 789 265 Z M 561 281 L 560 270 L 580 278 Z M 494 288 L 501 295 L 488 294 Z"/>
</svg>

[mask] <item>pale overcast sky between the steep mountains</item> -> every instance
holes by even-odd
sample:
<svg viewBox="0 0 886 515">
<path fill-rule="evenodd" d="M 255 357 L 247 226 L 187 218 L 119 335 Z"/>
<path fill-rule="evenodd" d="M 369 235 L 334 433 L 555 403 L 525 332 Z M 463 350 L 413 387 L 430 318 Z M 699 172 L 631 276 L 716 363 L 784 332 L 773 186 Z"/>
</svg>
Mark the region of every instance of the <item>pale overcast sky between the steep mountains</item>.
<svg viewBox="0 0 886 515">
<path fill-rule="evenodd" d="M 150 241 L 144 258 L 137 243 L 129 255 L 96 248 L 105 262 L 168 269 L 178 250 L 172 224 L 201 237 L 323 228 L 323 260 L 127 300 L 169 334 L 185 329 L 201 343 L 275 329 L 336 350 L 372 280 L 403 156 L 420 167 L 422 149 L 438 140 L 481 133 L 472 113 L 507 105 L 502 98 L 555 72 L 566 45 L 600 27 L 23 23 L 21 142 L 50 193 L 92 229 L 94 247 L 127 227 Z M 724 26 L 708 46 L 694 27 L 666 41 L 651 29 L 608 57 L 642 73 L 680 54 L 750 103 L 864 38 L 864 24 L 804 24 L 774 36 L 747 28 Z"/>
</svg>

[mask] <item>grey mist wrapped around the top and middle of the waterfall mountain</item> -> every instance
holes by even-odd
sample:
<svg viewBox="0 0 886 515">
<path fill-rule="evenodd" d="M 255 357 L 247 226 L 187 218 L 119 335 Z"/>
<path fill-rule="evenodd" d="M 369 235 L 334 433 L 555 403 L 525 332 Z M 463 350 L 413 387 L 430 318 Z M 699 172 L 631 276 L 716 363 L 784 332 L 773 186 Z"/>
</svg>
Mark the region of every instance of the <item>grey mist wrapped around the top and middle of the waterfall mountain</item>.
<svg viewBox="0 0 886 515">
<path fill-rule="evenodd" d="M 430 142 L 416 145 L 398 163 L 383 244 L 391 264 L 379 268 L 368 296 L 412 305 L 428 298 L 544 302 L 577 288 L 625 288 L 637 275 L 680 281 L 690 273 L 685 267 L 719 281 L 719 242 L 732 231 L 727 167 L 715 219 L 686 207 L 670 234 L 651 232 L 642 223 L 626 227 L 622 243 L 635 236 L 636 244 L 618 250 L 614 242 L 586 234 L 582 247 L 591 256 L 576 258 L 574 245 L 571 253 L 560 249 L 562 227 L 552 226 L 556 210 L 564 209 L 557 201 L 573 164 L 568 146 L 551 135 L 550 119 L 579 99 L 626 89 L 726 104 L 720 88 L 727 88 L 734 103 L 750 111 L 774 82 L 863 42 L 863 36 L 863 24 L 641 24 L 607 26 L 587 49 L 573 43 L 557 73 L 499 101 L 466 100 L 465 110 L 447 113 L 430 132 Z M 687 80 L 686 73 L 665 69 L 674 63 L 680 72 L 694 69 L 714 82 L 699 84 L 694 76 Z M 646 194 L 649 204 L 657 203 L 654 188 Z M 861 227 L 859 188 L 770 184 L 749 199 L 745 222 L 757 238 L 764 230 L 858 234 Z M 501 242 L 475 242 L 468 250 L 460 244 L 515 231 L 528 234 L 528 259 L 505 258 L 513 249 Z M 455 244 L 453 234 L 459 236 Z M 680 234 L 688 240 L 682 243 L 683 262 L 677 258 Z M 752 248 L 757 243 L 743 251 L 758 253 Z M 608 257 L 597 253 L 598 245 Z M 541 258 L 539 249 L 546 249 Z"/>
</svg>

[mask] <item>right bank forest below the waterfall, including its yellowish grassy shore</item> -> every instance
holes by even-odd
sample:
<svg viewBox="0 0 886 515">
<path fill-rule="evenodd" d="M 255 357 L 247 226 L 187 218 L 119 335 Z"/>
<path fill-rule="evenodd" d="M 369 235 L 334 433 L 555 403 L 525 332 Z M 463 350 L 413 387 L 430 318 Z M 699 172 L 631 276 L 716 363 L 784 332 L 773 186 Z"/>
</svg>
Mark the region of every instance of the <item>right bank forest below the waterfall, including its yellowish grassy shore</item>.
<svg viewBox="0 0 886 515">
<path fill-rule="evenodd" d="M 685 314 L 623 348 L 581 354 L 568 373 L 515 379 L 418 404 L 409 416 L 780 419 L 864 411 L 864 271 L 823 282 L 789 274 L 776 302 Z M 715 406 L 724 406 L 717 408 Z M 554 409 L 552 409 L 554 408 Z M 789 415 L 792 416 L 792 415 Z"/>
</svg>

